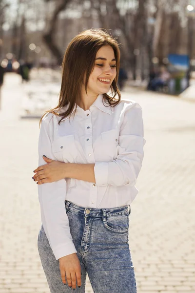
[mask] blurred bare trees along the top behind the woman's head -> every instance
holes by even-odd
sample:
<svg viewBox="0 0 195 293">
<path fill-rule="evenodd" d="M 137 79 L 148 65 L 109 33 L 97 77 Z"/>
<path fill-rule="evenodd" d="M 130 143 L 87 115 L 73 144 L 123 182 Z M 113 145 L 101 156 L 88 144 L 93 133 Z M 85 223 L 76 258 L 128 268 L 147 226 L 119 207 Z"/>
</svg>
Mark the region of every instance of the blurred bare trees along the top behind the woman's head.
<svg viewBox="0 0 195 293">
<path fill-rule="evenodd" d="M 7 71 L 17 69 L 14 61 L 55 68 L 78 32 L 103 27 L 121 42 L 130 78 L 145 80 L 152 65 L 169 63 L 169 54 L 188 55 L 195 65 L 193 5 L 194 0 L 0 0 L 0 57 L 8 60 Z"/>
</svg>

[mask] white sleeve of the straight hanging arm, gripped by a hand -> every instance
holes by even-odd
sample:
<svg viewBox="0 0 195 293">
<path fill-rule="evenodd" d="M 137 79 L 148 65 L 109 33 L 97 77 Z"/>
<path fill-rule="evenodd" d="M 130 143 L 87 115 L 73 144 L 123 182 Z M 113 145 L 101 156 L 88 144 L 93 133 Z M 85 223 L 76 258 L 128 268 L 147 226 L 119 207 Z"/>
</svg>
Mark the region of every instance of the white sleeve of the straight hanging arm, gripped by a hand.
<svg viewBox="0 0 195 293">
<path fill-rule="evenodd" d="M 43 155 L 56 160 L 51 146 L 53 127 L 53 119 L 47 115 L 42 120 L 39 134 L 39 166 L 46 164 Z M 64 205 L 66 180 L 38 185 L 38 191 L 42 225 L 56 259 L 77 252 Z"/>
</svg>

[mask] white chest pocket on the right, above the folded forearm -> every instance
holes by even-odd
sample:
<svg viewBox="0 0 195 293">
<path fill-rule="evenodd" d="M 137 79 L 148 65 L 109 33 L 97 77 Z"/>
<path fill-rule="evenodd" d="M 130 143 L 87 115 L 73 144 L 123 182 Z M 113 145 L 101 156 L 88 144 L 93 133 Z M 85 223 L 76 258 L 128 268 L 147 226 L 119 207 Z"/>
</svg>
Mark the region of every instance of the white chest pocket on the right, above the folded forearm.
<svg viewBox="0 0 195 293">
<path fill-rule="evenodd" d="M 112 161 L 117 157 L 119 129 L 112 129 L 101 133 L 98 143 L 98 160 Z"/>
</svg>

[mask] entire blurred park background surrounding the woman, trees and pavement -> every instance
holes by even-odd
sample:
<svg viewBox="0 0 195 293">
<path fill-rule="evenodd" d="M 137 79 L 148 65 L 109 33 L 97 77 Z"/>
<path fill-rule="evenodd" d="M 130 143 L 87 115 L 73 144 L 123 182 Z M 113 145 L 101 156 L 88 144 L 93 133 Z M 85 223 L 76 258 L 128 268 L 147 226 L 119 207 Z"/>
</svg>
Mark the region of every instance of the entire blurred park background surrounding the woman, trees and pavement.
<svg viewBox="0 0 195 293">
<path fill-rule="evenodd" d="M 68 43 L 88 28 L 117 38 L 122 97 L 143 109 L 137 293 L 195 293 L 195 0 L 0 0 L 0 293 L 49 293 L 31 179 L 39 118 L 57 105 Z"/>
</svg>

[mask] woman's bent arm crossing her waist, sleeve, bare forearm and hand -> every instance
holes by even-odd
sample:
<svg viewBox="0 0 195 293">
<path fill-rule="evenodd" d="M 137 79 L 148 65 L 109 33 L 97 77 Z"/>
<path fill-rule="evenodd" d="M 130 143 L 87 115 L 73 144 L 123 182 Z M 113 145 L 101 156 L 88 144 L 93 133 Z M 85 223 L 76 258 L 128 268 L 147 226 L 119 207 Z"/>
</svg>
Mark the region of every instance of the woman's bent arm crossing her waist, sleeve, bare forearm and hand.
<svg viewBox="0 0 195 293">
<path fill-rule="evenodd" d="M 135 103 L 128 105 L 119 134 L 117 159 L 95 164 L 60 163 L 44 158 L 48 163 L 35 170 L 38 184 L 53 182 L 61 178 L 75 178 L 96 183 L 98 186 L 135 185 L 143 160 L 143 121 L 142 109 Z M 44 175 L 41 168 L 44 168 Z"/>
</svg>

